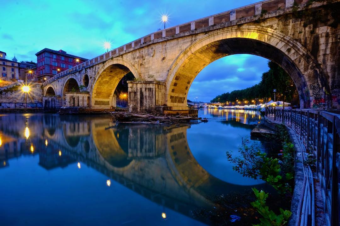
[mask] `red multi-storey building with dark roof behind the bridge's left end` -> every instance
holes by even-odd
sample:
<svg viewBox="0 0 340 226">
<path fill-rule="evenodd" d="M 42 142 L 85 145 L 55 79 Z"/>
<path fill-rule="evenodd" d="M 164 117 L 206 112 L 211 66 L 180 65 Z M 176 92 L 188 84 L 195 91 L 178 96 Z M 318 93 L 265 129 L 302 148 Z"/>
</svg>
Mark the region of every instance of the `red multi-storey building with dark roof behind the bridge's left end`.
<svg viewBox="0 0 340 226">
<path fill-rule="evenodd" d="M 63 50 L 44 48 L 35 54 L 37 56 L 37 69 L 34 82 L 44 82 L 54 75 L 77 66 L 88 59 L 67 54 Z"/>
</svg>

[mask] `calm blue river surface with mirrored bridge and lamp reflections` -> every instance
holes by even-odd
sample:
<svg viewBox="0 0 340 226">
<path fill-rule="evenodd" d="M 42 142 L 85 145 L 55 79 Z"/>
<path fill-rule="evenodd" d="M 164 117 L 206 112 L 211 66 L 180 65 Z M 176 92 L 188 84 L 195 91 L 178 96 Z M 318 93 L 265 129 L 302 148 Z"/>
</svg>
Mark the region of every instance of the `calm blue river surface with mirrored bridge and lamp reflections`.
<svg viewBox="0 0 340 226">
<path fill-rule="evenodd" d="M 0 225 L 205 225 L 192 211 L 210 207 L 206 197 L 263 184 L 242 178 L 225 156 L 237 154 L 261 116 L 199 115 L 209 122 L 0 115 Z"/>
</svg>

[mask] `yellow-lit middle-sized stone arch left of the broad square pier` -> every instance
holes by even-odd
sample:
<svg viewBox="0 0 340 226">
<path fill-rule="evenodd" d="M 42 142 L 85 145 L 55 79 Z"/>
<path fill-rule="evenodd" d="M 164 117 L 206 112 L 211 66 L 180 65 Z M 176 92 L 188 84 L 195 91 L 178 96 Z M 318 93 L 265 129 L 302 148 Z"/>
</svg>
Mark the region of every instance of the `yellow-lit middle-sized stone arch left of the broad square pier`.
<svg viewBox="0 0 340 226">
<path fill-rule="evenodd" d="M 92 108 L 111 108 L 114 105 L 112 99 L 117 84 L 130 71 L 136 79 L 140 79 L 137 69 L 127 60 L 117 57 L 106 61 L 97 71 L 92 83 Z"/>
</svg>

